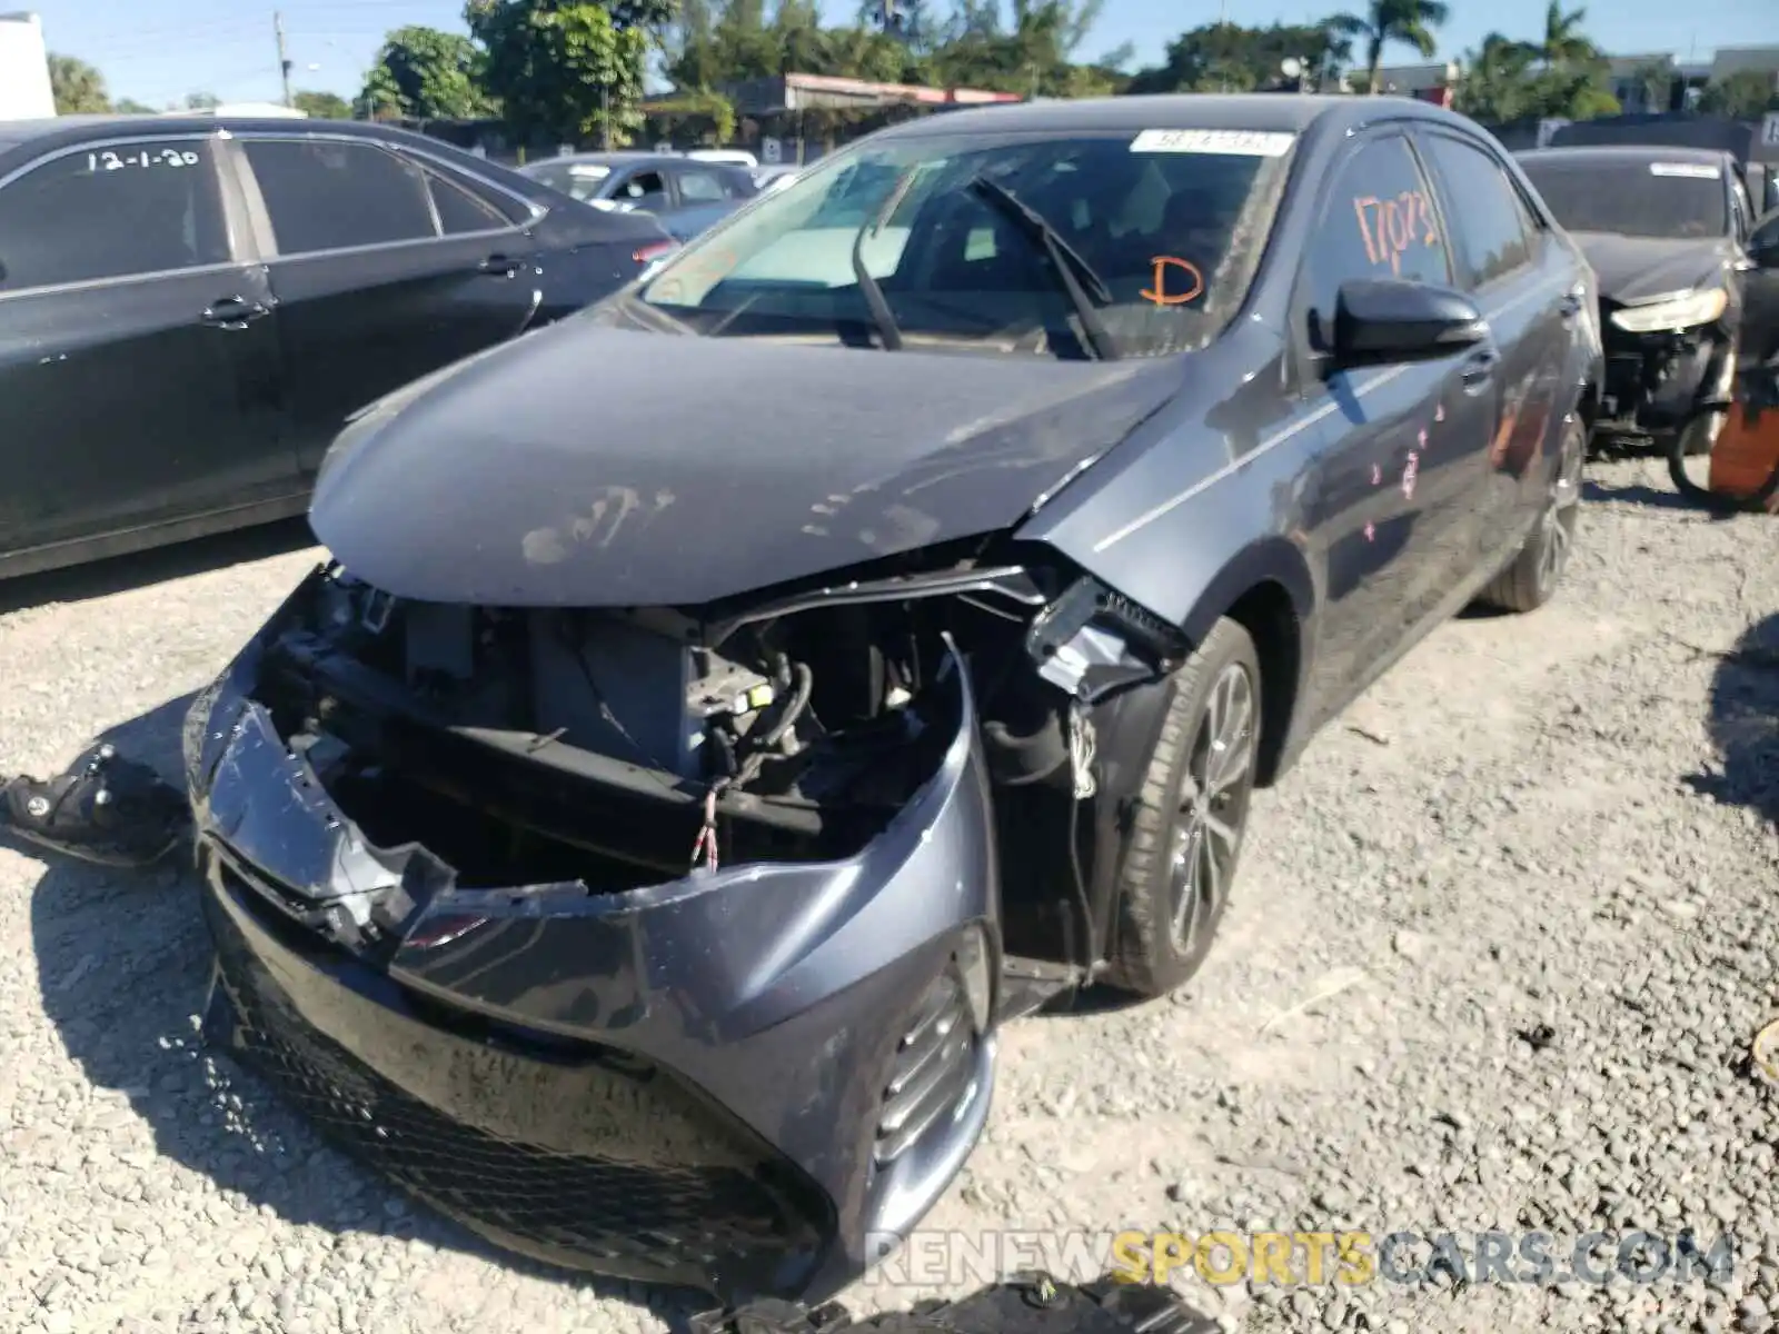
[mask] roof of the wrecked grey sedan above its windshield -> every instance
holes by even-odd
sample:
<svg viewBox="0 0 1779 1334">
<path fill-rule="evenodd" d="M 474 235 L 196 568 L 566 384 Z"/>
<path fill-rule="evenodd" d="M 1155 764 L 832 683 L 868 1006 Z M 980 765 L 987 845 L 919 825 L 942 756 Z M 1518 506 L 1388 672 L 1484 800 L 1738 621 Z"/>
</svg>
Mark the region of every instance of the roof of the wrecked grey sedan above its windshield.
<svg viewBox="0 0 1779 1334">
<path fill-rule="evenodd" d="M 882 137 L 927 133 L 1080 133 L 1142 130 L 1261 130 L 1302 133 L 1311 125 L 1359 128 L 1375 121 L 1423 119 L 1477 133 L 1468 117 L 1416 98 L 1356 98 L 1306 92 L 1156 92 L 1124 98 L 1009 101 L 906 121 Z"/>
</svg>

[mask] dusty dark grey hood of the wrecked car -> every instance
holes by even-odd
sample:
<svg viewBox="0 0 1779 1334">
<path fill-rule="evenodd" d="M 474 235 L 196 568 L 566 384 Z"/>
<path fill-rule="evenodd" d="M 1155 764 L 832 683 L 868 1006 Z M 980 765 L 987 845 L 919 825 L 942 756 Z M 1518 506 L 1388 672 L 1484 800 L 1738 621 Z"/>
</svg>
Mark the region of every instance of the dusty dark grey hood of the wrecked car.
<svg viewBox="0 0 1779 1334">
<path fill-rule="evenodd" d="M 361 413 L 310 521 L 402 598 L 701 605 L 1007 528 L 1178 386 L 571 318 Z"/>
</svg>

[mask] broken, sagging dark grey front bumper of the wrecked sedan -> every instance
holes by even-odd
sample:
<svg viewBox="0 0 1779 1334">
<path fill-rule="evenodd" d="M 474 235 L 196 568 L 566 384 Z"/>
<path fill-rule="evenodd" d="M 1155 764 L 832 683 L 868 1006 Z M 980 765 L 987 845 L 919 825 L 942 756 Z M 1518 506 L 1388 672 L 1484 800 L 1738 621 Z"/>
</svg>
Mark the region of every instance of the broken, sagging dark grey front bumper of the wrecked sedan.
<svg viewBox="0 0 1779 1334">
<path fill-rule="evenodd" d="M 831 1295 L 932 1206 L 994 1065 L 962 671 L 938 774 L 856 857 L 463 891 L 368 845 L 285 747 L 251 694 L 265 642 L 187 724 L 208 1030 L 324 1133 L 498 1245 L 726 1298 Z M 393 950 L 315 928 L 391 875 Z"/>
</svg>

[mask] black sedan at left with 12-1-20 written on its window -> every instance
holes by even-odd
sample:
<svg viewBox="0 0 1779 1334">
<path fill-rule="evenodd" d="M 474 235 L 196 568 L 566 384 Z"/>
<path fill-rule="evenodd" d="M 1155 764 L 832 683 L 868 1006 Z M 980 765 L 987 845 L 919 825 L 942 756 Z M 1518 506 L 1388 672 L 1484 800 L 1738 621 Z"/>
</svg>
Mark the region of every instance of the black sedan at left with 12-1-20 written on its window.
<svg viewBox="0 0 1779 1334">
<path fill-rule="evenodd" d="M 354 409 L 665 249 L 388 126 L 0 123 L 0 575 L 301 514 Z"/>
</svg>

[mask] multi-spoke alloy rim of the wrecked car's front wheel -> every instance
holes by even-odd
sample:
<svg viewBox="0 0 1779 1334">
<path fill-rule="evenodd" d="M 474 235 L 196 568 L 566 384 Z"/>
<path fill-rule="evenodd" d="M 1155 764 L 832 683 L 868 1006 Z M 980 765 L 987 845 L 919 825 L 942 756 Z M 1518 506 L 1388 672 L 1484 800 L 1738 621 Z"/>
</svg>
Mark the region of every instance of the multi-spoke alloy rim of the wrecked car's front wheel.
<svg viewBox="0 0 1779 1334">
<path fill-rule="evenodd" d="M 1174 820 L 1172 941 L 1190 957 L 1229 896 L 1249 795 L 1254 790 L 1258 717 L 1254 679 L 1233 662 L 1219 672 L 1199 713 Z"/>
</svg>

